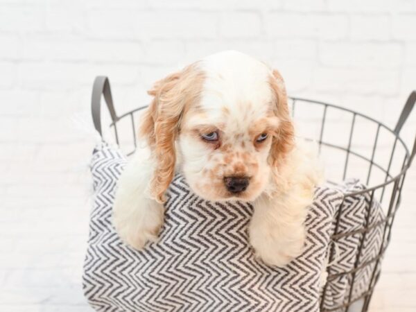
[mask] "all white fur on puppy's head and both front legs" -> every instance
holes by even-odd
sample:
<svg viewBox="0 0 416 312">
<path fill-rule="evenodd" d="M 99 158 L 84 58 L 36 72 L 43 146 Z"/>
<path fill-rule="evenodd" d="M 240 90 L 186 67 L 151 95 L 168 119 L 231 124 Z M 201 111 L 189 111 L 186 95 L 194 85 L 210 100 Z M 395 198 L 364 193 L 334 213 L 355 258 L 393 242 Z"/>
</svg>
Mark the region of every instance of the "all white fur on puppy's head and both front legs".
<svg viewBox="0 0 416 312">
<path fill-rule="evenodd" d="M 176 141 L 180 159 L 177 170 L 202 198 L 254 202 L 250 243 L 265 263 L 284 266 L 302 253 L 306 207 L 321 179 L 316 157 L 297 142 L 284 167 L 274 173 L 268 164 L 271 141 L 261 150 L 254 148 L 248 130 L 266 116 L 272 101 L 268 84 L 272 71 L 265 64 L 243 53 L 226 51 L 205 58 L 199 67 L 206 77 L 200 98 L 204 113 L 183 116 Z M 229 113 L 224 114 L 225 110 Z M 279 120 L 270 122 L 278 124 Z M 231 161 L 225 160 L 224 152 L 213 150 L 187 131 L 207 124 L 223 125 L 224 142 L 232 145 L 227 152 Z M 249 160 L 243 154 L 249 155 Z M 225 196 L 223 177 L 232 175 L 232 168 L 238 164 L 243 164 L 245 174 L 250 175 L 250 186 L 241 196 Z M 114 226 L 121 239 L 137 249 L 146 241 L 155 241 L 163 224 L 162 205 L 148 195 L 154 168 L 149 148 L 139 148 L 121 175 L 116 192 Z M 203 175 L 205 171 L 212 174 Z"/>
</svg>

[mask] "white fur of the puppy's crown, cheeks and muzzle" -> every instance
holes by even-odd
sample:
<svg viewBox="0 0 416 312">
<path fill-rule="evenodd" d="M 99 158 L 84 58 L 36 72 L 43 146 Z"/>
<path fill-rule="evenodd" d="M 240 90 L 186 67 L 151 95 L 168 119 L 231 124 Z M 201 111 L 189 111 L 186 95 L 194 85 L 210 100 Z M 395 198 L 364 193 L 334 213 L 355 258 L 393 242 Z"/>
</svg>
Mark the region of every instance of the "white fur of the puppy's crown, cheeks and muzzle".
<svg viewBox="0 0 416 312">
<path fill-rule="evenodd" d="M 233 162 L 242 162 L 241 157 L 237 156 L 238 152 L 250 153 L 253 160 L 259 164 L 257 178 L 263 180 L 259 182 L 266 184 L 270 174 L 267 164 L 268 150 L 254 153 L 254 146 L 250 144 L 248 137 L 248 125 L 265 116 L 267 110 L 265 104 L 272 101 L 272 92 L 268 85 L 271 69 L 258 60 L 236 51 L 209 55 L 200 62 L 200 68 L 206 76 L 200 99 L 200 106 L 205 114 L 184 116 L 182 128 L 187 130 L 202 124 L 225 124 L 224 132 L 236 152 Z M 229 114 L 225 115 L 223 109 L 227 109 Z M 243 137 L 234 139 L 234 135 L 243 135 Z M 248 142 L 245 148 L 239 146 L 243 141 Z M 178 143 L 182 159 L 181 171 L 193 191 L 208 200 L 241 199 L 218 196 L 214 189 L 207 187 L 207 184 L 214 181 L 202 179 L 200 176 L 203 168 L 210 169 L 223 162 L 223 155 L 220 152 L 209 153 L 203 142 L 195 141 L 193 137 L 187 135 L 182 135 Z M 211 161 L 209 156 L 213 158 Z M 229 168 L 224 166 L 217 174 L 218 183 L 222 183 L 224 175 L 228 173 Z M 254 200 L 259 193 L 260 191 L 248 193 L 243 199 Z"/>
</svg>

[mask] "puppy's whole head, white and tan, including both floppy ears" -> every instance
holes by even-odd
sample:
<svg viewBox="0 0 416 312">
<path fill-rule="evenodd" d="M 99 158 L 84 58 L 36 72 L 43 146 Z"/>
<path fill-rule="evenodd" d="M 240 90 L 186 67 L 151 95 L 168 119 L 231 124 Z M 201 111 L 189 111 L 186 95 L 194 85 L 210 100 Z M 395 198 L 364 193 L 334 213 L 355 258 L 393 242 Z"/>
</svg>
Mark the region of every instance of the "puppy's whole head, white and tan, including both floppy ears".
<svg viewBox="0 0 416 312">
<path fill-rule="evenodd" d="M 227 51 L 155 84 L 142 135 L 157 159 L 151 189 L 163 201 L 175 166 L 208 200 L 254 200 L 293 146 L 283 80 Z"/>
</svg>

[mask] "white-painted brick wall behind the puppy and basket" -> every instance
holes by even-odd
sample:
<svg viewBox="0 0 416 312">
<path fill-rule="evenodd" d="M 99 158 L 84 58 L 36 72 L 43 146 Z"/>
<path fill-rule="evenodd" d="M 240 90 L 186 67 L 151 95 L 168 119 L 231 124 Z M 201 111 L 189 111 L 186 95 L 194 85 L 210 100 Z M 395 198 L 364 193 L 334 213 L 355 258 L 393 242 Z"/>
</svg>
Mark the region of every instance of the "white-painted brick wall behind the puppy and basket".
<svg viewBox="0 0 416 312">
<path fill-rule="evenodd" d="M 147 103 L 153 81 L 224 49 L 272 64 L 290 94 L 394 125 L 416 89 L 416 0 L 0 0 L 1 311 L 89 311 L 80 272 L 94 77 L 110 76 L 125 112 Z M 413 168 L 413 206 L 415 178 Z M 405 208 L 374 311 L 416 309 L 399 295 L 416 290 L 416 254 L 401 252 L 416 244 Z"/>
</svg>

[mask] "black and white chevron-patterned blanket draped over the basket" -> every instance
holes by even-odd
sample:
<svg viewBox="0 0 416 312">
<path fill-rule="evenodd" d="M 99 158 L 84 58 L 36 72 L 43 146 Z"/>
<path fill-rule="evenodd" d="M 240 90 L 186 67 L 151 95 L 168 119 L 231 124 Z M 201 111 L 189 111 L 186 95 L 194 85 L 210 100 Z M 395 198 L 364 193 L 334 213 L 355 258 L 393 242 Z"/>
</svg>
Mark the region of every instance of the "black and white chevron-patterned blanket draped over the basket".
<svg viewBox="0 0 416 312">
<path fill-rule="evenodd" d="M 96 311 L 319 311 L 327 282 L 325 309 L 349 297 L 361 234 L 336 242 L 336 261 L 327 268 L 334 217 L 343 214 L 338 232 L 382 217 L 368 198 L 343 203 L 343 192 L 363 188 L 358 182 L 319 187 L 306 220 L 304 253 L 285 268 L 265 266 L 254 258 L 247 226 L 252 205 L 218 203 L 198 198 L 177 175 L 168 191 L 165 223 L 158 243 L 143 251 L 123 245 L 111 223 L 114 188 L 125 156 L 105 143 L 94 149 L 91 171 L 94 207 L 89 223 L 83 288 Z M 341 212 L 340 212 L 341 211 Z M 374 257 L 381 229 L 367 234 L 363 260 Z M 325 272 L 340 273 L 326 281 Z M 369 287 L 372 267 L 356 272 L 352 297 Z"/>
</svg>

